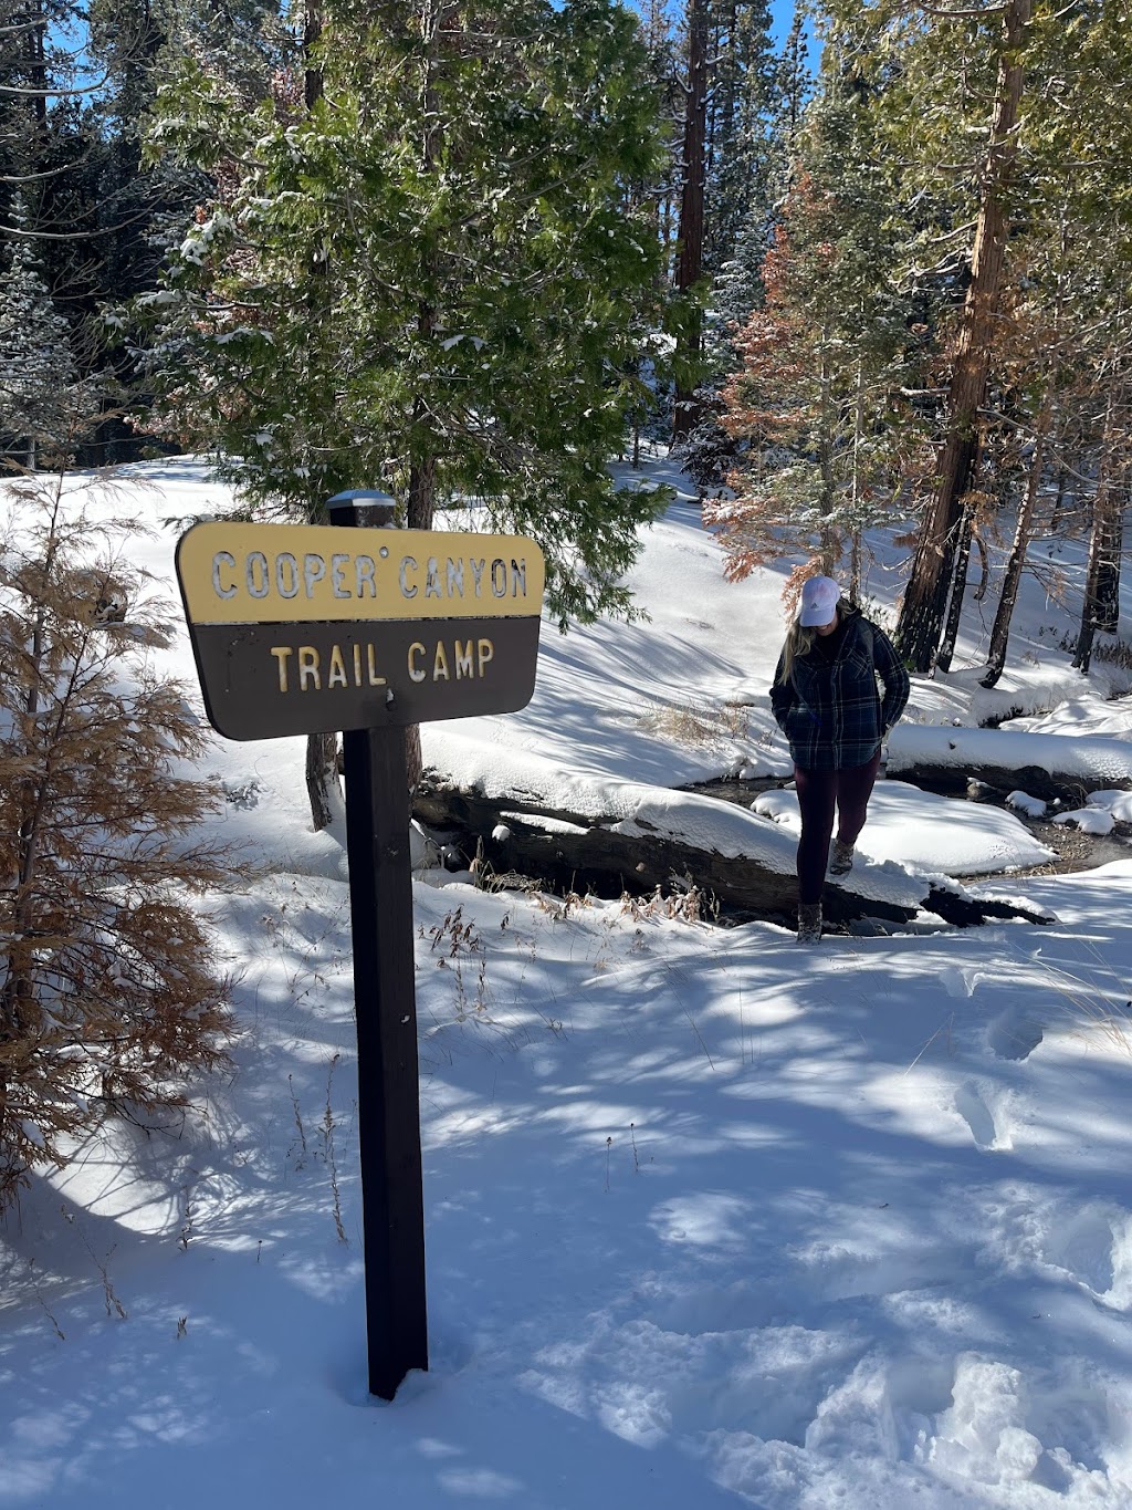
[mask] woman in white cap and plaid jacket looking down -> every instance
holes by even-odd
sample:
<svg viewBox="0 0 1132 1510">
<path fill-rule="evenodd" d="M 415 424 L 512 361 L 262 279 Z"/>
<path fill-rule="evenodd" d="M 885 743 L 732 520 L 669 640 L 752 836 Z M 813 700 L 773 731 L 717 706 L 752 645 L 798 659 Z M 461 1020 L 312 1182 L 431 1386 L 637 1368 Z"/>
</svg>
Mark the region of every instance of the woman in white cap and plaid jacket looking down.
<svg viewBox="0 0 1132 1510">
<path fill-rule="evenodd" d="M 881 741 L 907 701 L 909 676 L 889 637 L 841 596 L 832 577 L 811 577 L 770 689 L 771 710 L 789 740 L 801 808 L 800 944 L 821 938 L 827 865 L 830 876 L 853 868 Z M 838 834 L 830 853 L 835 814 Z"/>
</svg>

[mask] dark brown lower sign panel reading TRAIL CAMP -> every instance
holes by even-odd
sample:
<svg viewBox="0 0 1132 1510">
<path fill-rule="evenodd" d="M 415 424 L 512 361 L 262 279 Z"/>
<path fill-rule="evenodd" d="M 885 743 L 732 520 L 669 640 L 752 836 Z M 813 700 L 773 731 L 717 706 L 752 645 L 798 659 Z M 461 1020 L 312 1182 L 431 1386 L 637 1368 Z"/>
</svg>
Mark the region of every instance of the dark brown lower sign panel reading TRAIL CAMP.
<svg viewBox="0 0 1132 1510">
<path fill-rule="evenodd" d="M 193 624 L 208 722 L 229 740 L 513 713 L 534 692 L 539 619 Z"/>
</svg>

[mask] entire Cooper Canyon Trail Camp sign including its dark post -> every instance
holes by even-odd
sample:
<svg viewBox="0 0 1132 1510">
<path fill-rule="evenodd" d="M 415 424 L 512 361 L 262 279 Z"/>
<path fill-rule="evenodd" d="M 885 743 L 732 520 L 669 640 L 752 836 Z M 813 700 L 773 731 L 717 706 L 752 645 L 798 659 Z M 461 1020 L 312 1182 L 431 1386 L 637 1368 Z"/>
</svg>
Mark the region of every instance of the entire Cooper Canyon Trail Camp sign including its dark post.
<svg viewBox="0 0 1132 1510">
<path fill-rule="evenodd" d="M 177 574 L 217 732 L 343 731 L 368 1376 L 392 1400 L 429 1367 L 405 729 L 530 702 L 545 568 L 524 536 L 355 528 L 382 498 L 196 524 Z"/>
</svg>

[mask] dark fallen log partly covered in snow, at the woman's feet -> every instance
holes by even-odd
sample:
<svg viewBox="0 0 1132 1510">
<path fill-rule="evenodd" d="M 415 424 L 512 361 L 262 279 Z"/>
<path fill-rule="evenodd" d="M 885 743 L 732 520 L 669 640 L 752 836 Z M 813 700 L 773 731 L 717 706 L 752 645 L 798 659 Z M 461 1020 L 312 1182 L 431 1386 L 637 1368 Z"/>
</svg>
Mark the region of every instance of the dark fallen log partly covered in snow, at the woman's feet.
<svg viewBox="0 0 1132 1510">
<path fill-rule="evenodd" d="M 718 809 L 720 821 L 729 826 L 753 824 L 753 853 L 735 852 L 734 844 L 688 840 L 640 809 L 628 821 L 623 811 L 564 811 L 534 794 L 489 796 L 460 788 L 436 772 L 426 772 L 414 814 L 426 826 L 453 835 L 481 883 L 507 877 L 518 885 L 531 877 L 546 889 L 605 897 L 696 886 L 708 906 L 714 898 L 734 921 L 759 918 L 791 927 L 797 909 L 795 841 L 746 809 L 709 797 L 691 800 Z M 862 865 L 826 885 L 824 911 L 835 924 L 863 918 L 909 923 L 921 908 L 963 927 L 992 918 L 1049 921 L 1022 904 L 980 898 L 954 883 L 916 877 L 894 865 Z"/>
</svg>

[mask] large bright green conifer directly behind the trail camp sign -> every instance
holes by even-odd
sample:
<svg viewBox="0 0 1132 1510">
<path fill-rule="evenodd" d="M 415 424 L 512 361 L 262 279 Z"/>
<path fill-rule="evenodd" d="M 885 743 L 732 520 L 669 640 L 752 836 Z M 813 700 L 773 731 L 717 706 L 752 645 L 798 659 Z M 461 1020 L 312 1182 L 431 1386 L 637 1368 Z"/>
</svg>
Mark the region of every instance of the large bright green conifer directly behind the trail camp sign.
<svg viewBox="0 0 1132 1510">
<path fill-rule="evenodd" d="M 217 183 L 152 300 L 168 430 L 308 519 L 352 486 L 412 527 L 475 500 L 539 541 L 563 625 L 631 612 L 661 501 L 605 471 L 661 314 L 635 23 L 605 0 L 338 0 L 309 63 L 309 104 L 294 69 L 257 107 L 190 51 L 161 89 L 151 153 Z"/>
</svg>

